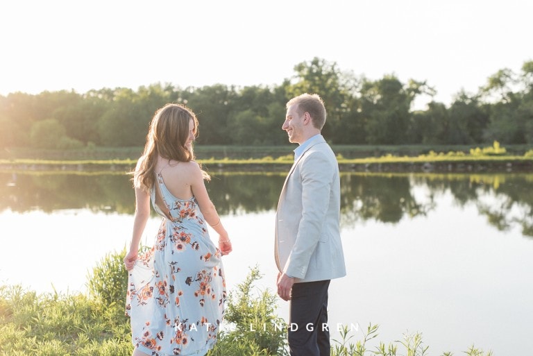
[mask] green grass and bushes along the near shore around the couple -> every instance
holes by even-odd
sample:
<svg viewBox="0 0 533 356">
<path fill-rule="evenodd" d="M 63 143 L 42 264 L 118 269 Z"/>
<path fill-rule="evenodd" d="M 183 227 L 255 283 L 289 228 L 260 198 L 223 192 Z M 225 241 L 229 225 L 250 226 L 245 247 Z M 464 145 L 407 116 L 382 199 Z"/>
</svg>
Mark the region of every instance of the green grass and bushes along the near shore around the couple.
<svg viewBox="0 0 533 356">
<path fill-rule="evenodd" d="M 111 253 L 87 276 L 87 294 L 36 294 L 18 286 L 0 287 L 0 355 L 67 356 L 131 355 L 129 320 L 124 316 L 127 273 L 125 251 Z M 219 342 L 208 356 L 288 356 L 283 321 L 276 314 L 277 297 L 257 291 L 257 267 L 230 291 L 226 322 Z M 332 356 L 430 355 L 421 333 L 404 334 L 400 341 L 376 344 L 378 325 L 369 325 L 362 339 L 345 328 L 332 341 Z M 471 346 L 469 356 L 484 356 Z M 450 356 L 452 353 L 442 353 Z"/>
</svg>

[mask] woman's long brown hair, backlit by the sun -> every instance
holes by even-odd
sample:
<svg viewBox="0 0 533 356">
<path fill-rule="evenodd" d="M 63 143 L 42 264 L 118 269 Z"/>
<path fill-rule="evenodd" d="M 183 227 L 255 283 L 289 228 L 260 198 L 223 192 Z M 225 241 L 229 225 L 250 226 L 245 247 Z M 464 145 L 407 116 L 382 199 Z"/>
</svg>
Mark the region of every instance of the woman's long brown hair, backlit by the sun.
<svg viewBox="0 0 533 356">
<path fill-rule="evenodd" d="M 194 122 L 194 137 L 198 136 L 198 119 L 192 110 L 180 104 L 167 104 L 155 112 L 150 123 L 146 144 L 139 164 L 133 172 L 133 185 L 150 191 L 155 182 L 155 164 L 158 155 L 166 160 L 189 162 L 194 160 L 189 138 L 189 121 Z M 209 179 L 203 172 L 204 178 Z"/>
</svg>

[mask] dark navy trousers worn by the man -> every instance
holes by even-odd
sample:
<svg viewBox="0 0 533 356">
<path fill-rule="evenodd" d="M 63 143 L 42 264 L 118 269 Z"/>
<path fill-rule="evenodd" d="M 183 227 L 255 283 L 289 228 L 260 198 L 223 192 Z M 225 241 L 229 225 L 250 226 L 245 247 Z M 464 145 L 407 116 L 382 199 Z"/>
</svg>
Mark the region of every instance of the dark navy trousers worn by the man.
<svg viewBox="0 0 533 356">
<path fill-rule="evenodd" d="M 291 356 L 330 356 L 329 286 L 330 280 L 292 285 L 289 305 Z"/>
</svg>

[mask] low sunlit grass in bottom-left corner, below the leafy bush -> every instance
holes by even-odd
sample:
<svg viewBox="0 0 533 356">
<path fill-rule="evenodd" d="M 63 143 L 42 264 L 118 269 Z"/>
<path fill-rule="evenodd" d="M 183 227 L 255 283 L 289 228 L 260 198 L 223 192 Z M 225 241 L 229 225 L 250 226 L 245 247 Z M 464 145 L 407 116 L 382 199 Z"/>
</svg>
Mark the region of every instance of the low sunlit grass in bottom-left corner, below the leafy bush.
<svg viewBox="0 0 533 356">
<path fill-rule="evenodd" d="M 130 355 L 124 306 L 83 294 L 59 295 L 0 287 L 0 354 Z"/>
</svg>

